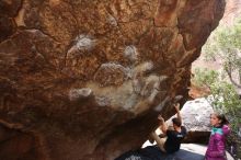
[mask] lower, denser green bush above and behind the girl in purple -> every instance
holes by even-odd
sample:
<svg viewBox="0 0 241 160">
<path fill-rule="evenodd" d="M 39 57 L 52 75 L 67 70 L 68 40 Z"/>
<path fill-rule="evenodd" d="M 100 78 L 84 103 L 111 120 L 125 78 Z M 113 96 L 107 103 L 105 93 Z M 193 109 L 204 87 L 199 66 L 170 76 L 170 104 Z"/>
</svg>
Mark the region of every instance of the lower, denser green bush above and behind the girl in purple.
<svg viewBox="0 0 241 160">
<path fill-rule="evenodd" d="M 197 68 L 192 82 L 198 87 L 206 87 L 210 90 L 211 96 L 206 99 L 214 110 L 228 116 L 233 130 L 238 130 L 241 123 L 241 100 L 237 94 L 233 84 L 220 79 L 215 70 Z"/>
</svg>

